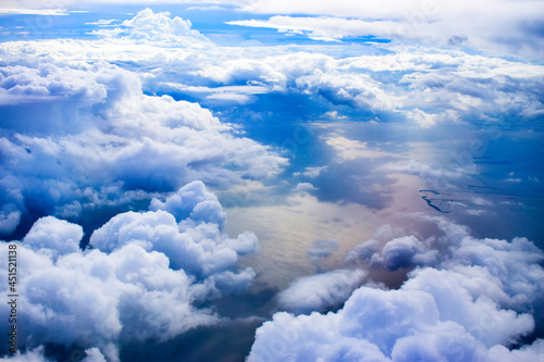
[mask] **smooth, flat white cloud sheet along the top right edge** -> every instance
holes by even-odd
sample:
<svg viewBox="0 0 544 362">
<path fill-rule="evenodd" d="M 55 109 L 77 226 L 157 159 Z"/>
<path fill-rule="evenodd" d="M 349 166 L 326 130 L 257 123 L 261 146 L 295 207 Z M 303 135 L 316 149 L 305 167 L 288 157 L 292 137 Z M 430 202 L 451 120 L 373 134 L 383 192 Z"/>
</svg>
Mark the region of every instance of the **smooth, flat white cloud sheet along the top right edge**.
<svg viewBox="0 0 544 362">
<path fill-rule="evenodd" d="M 375 7 L 370 2 L 329 1 L 242 1 L 242 9 L 261 14 L 276 14 L 269 20 L 238 21 L 234 24 L 302 33 L 318 39 L 346 36 L 386 37 L 426 45 L 460 45 L 495 53 L 517 53 L 537 59 L 542 35 L 531 26 L 543 5 L 539 1 L 512 0 L 436 1 L 390 0 Z M 490 15 L 489 9 L 497 11 Z M 280 14 L 290 16 L 277 16 Z M 296 15 L 296 16 L 295 16 Z M 321 15 L 321 16 L 320 16 Z M 516 45 L 516 41 L 518 43 Z"/>
</svg>

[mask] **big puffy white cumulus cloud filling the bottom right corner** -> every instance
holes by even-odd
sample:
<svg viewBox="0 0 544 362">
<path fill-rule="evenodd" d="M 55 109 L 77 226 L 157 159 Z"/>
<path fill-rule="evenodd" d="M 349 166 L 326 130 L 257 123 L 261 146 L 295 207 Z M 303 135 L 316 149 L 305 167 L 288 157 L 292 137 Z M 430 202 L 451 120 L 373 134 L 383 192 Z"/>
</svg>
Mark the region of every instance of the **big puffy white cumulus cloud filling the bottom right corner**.
<svg viewBox="0 0 544 362">
<path fill-rule="evenodd" d="M 449 253 L 441 262 L 434 258 L 434 267 L 416 269 L 398 290 L 360 287 L 336 313 L 276 313 L 257 330 L 248 360 L 542 359 L 540 339 L 507 348 L 533 330 L 529 313 L 537 316 L 542 308 L 542 251 L 527 239 L 479 240 L 458 225 L 435 222 L 442 230 L 437 242 L 446 244 Z M 383 249 L 417 245 L 411 236 L 390 242 Z"/>
</svg>

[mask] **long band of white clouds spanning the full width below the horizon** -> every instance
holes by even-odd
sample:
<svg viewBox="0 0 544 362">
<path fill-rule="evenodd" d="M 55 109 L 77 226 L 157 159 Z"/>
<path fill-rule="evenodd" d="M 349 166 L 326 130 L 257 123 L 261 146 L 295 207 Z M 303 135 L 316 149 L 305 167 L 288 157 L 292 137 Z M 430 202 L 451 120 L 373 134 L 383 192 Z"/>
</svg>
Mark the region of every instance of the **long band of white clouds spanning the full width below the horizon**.
<svg viewBox="0 0 544 362">
<path fill-rule="evenodd" d="M 373 115 L 393 112 L 424 127 L 443 122 L 496 122 L 504 114 L 531 118 L 542 108 L 537 91 L 542 83 L 540 65 L 460 50 L 398 45 L 368 47 L 350 57 L 325 55 L 311 49 L 294 52 L 285 48 L 213 45 L 202 50 L 183 42 L 173 48 L 154 36 L 147 37 L 145 45 L 139 43 L 126 32 L 145 29 L 141 32 L 146 35 L 165 34 L 168 39 L 175 33 L 174 23 L 184 21 L 145 10 L 127 22 L 141 25 L 108 30 L 113 33 L 102 40 L 70 40 L 70 48 L 55 40 L 25 45 L 32 51 L 25 52 L 23 59 L 18 45 L 4 43 L 3 53 L 7 60 L 32 62 L 37 67 L 40 57 L 66 64 L 81 63 L 83 52 L 89 61 L 103 59 L 129 70 L 145 70 L 141 80 L 147 91 L 178 91 L 206 104 L 245 104 L 258 101 L 261 93 L 302 92 L 318 97 L 319 101 L 327 100 L 332 111 L 348 105 Z M 183 36 L 200 43 L 200 36 L 191 33 L 188 23 L 184 24 Z"/>
</svg>

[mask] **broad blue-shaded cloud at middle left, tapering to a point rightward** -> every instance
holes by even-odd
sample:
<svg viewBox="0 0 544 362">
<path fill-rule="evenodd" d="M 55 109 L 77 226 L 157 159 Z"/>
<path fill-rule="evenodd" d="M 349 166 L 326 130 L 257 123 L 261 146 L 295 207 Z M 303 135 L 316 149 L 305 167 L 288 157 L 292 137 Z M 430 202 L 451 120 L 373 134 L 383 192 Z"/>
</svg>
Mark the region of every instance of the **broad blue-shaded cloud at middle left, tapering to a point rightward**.
<svg viewBox="0 0 544 362">
<path fill-rule="evenodd" d="M 77 220 L 195 179 L 224 188 L 286 164 L 196 103 L 143 95 L 134 73 L 107 63 L 1 72 L 0 99 L 10 109 L 0 138 L 5 234 L 22 215 Z"/>
</svg>

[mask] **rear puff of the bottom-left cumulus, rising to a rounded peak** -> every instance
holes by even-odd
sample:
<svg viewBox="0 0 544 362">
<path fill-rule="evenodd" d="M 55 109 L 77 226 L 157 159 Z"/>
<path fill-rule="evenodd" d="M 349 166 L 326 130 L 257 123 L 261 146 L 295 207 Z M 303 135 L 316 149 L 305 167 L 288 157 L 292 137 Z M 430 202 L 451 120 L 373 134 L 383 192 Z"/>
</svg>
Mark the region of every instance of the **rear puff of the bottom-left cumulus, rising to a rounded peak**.
<svg viewBox="0 0 544 362">
<path fill-rule="evenodd" d="M 111 252 L 136 242 L 147 251 L 164 253 L 172 269 L 183 269 L 199 278 L 233 269 L 238 253 L 257 248 L 257 237 L 251 233 L 225 238 L 225 212 L 200 182 L 184 186 L 164 202 L 153 199 L 150 209 L 156 211 L 115 215 L 92 233 L 89 244 Z M 245 273 L 248 277 L 243 279 L 250 282 L 252 272 Z M 227 285 L 226 279 L 222 283 Z"/>
</svg>

